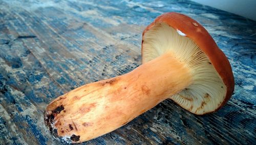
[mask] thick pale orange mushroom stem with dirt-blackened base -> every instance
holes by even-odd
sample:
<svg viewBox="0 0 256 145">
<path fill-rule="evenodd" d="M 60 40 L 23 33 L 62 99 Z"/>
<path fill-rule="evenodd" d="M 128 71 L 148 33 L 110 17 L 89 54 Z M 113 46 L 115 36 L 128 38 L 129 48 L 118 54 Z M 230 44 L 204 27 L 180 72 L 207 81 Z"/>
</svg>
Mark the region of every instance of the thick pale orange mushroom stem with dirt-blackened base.
<svg viewBox="0 0 256 145">
<path fill-rule="evenodd" d="M 56 98 L 47 106 L 45 122 L 57 138 L 90 140 L 125 125 L 190 83 L 185 65 L 166 53 L 130 73 Z"/>
</svg>

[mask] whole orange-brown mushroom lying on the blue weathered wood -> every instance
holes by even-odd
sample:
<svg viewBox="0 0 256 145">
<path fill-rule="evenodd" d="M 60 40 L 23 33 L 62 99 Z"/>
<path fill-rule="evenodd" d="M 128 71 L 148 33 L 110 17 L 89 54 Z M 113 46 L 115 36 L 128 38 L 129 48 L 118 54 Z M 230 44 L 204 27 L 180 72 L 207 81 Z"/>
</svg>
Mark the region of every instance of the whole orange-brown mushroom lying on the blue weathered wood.
<svg viewBox="0 0 256 145">
<path fill-rule="evenodd" d="M 179 13 L 164 13 L 142 35 L 142 65 L 89 83 L 53 100 L 45 123 L 58 139 L 78 143 L 109 133 L 165 99 L 191 113 L 220 109 L 234 78 L 225 54 L 205 28 Z"/>
</svg>

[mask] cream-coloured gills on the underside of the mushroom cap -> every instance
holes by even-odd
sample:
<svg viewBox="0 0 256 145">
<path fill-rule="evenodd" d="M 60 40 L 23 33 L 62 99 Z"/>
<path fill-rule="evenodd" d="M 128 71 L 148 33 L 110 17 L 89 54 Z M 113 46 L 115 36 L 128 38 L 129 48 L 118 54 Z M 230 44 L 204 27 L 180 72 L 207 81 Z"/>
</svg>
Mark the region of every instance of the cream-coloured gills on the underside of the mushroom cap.
<svg viewBox="0 0 256 145">
<path fill-rule="evenodd" d="M 142 41 L 143 64 L 165 53 L 171 53 L 191 73 L 193 82 L 178 94 L 170 96 L 170 99 L 196 114 L 212 112 L 220 107 L 226 95 L 226 85 L 206 54 L 193 40 L 161 22 L 148 30 Z"/>
</svg>

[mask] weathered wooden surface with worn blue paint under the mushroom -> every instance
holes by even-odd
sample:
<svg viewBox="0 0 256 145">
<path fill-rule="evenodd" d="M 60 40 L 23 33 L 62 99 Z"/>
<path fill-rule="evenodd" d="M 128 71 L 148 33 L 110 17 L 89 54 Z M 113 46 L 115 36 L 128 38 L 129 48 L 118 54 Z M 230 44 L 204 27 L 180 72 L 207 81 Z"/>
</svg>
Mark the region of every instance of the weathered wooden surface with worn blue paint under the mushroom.
<svg viewBox="0 0 256 145">
<path fill-rule="evenodd" d="M 0 144 L 62 144 L 44 125 L 54 98 L 141 64 L 141 34 L 163 12 L 199 21 L 227 55 L 231 100 L 198 116 L 166 100 L 82 144 L 255 144 L 256 22 L 190 1 L 0 0 Z"/>
</svg>

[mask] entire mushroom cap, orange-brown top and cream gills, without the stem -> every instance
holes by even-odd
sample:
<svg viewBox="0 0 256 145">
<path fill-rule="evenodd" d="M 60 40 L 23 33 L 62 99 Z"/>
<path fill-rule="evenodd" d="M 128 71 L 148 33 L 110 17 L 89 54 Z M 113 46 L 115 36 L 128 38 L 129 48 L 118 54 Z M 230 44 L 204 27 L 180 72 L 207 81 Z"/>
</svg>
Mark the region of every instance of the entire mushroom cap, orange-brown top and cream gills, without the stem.
<svg viewBox="0 0 256 145">
<path fill-rule="evenodd" d="M 151 61 L 164 53 L 172 53 L 175 59 L 183 62 L 190 70 L 193 83 L 169 98 L 195 114 L 214 112 L 227 102 L 233 92 L 230 64 L 224 53 L 198 22 L 187 16 L 184 20 L 184 15 L 177 13 L 174 13 L 173 19 L 170 19 L 170 15 L 173 13 L 161 15 L 144 31 L 142 63 Z M 179 20 L 180 15 L 181 20 Z M 197 28 L 191 30 L 187 27 L 186 19 L 189 20 L 189 24 Z M 170 22 L 170 20 L 180 21 L 180 23 Z M 200 41 L 199 36 L 201 36 Z M 217 53 L 211 54 L 214 52 Z M 222 64 L 219 65 L 220 61 Z"/>
</svg>

